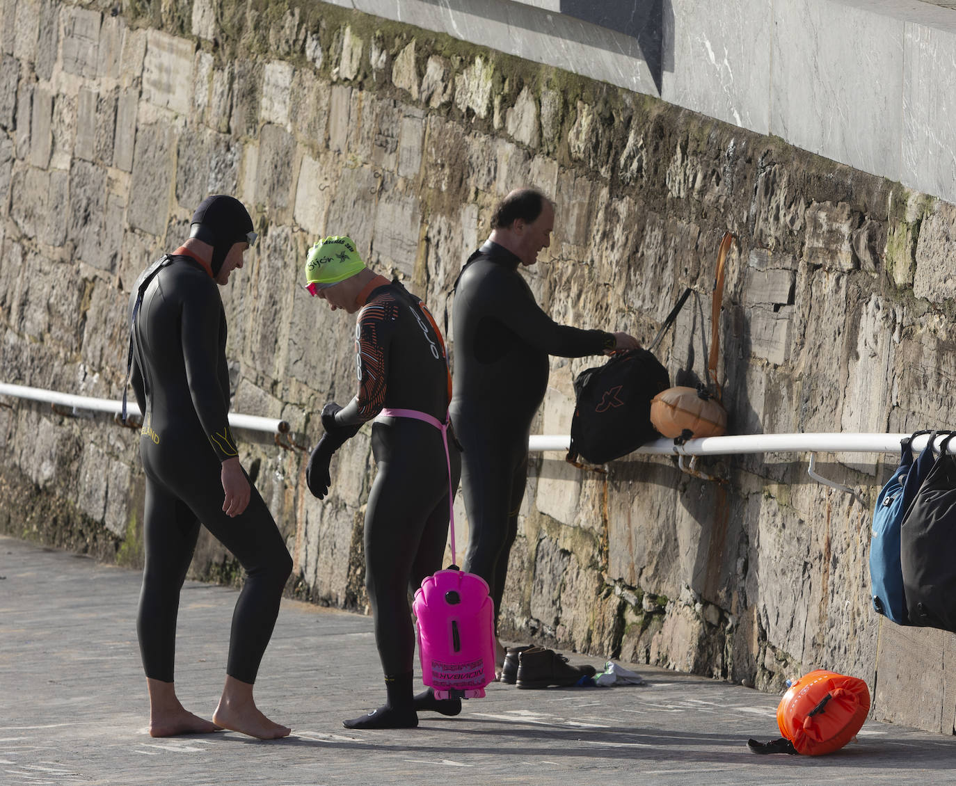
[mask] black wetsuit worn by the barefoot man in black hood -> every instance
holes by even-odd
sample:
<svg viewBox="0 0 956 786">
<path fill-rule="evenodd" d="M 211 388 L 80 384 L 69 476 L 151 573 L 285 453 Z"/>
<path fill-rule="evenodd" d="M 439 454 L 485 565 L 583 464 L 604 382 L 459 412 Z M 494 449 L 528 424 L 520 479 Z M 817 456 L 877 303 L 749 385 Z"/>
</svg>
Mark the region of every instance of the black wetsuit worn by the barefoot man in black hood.
<svg viewBox="0 0 956 786">
<path fill-rule="evenodd" d="M 254 486 L 243 513 L 229 517 L 222 510 L 221 462 L 237 450 L 228 426 L 226 314 L 218 286 L 197 261 L 173 256 L 146 288 L 133 333 L 146 473 L 137 622 L 146 676 L 173 682 L 179 594 L 202 522 L 248 574 L 232 616 L 227 672 L 253 683 L 292 559 Z"/>
</svg>

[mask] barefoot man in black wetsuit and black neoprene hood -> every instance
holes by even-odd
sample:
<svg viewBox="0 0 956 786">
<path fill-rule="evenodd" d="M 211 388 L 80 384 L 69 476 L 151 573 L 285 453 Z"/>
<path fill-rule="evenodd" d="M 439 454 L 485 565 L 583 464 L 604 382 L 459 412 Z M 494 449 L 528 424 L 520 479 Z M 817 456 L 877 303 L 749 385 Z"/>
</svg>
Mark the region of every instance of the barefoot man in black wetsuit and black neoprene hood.
<svg viewBox="0 0 956 786">
<path fill-rule="evenodd" d="M 208 197 L 193 215 L 190 238 L 140 276 L 130 302 L 131 381 L 146 473 L 137 629 L 153 736 L 225 728 L 273 739 L 290 732 L 252 698 L 292 559 L 229 429 L 226 314 L 216 286 L 242 267 L 254 240 L 240 202 Z M 173 682 L 179 594 L 200 522 L 247 572 L 232 616 L 226 686 L 211 722 L 185 710 Z"/>
</svg>

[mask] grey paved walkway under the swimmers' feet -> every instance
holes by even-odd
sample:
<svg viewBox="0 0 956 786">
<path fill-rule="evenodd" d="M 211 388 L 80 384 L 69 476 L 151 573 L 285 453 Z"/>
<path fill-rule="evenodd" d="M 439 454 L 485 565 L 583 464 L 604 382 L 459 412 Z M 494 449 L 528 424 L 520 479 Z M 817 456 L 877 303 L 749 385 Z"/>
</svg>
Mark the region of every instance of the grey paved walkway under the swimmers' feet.
<svg viewBox="0 0 956 786">
<path fill-rule="evenodd" d="M 0 784 L 956 783 L 956 740 L 868 723 L 831 756 L 756 756 L 778 697 L 649 666 L 648 685 L 518 690 L 493 684 L 455 718 L 347 731 L 382 698 L 371 620 L 284 600 L 256 685 L 293 728 L 146 733 L 136 642 L 140 577 L 0 536 Z M 189 582 L 177 688 L 205 714 L 222 687 L 235 592 Z M 573 662 L 596 659 L 573 658 Z"/>
</svg>

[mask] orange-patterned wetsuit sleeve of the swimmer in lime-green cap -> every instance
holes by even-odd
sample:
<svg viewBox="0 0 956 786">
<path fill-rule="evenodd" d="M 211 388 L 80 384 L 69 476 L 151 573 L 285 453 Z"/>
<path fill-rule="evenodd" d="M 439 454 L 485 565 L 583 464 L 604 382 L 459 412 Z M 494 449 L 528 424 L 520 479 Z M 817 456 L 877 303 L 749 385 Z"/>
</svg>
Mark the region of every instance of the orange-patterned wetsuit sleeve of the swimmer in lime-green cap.
<svg viewBox="0 0 956 786">
<path fill-rule="evenodd" d="M 336 415 L 342 426 L 372 420 L 385 405 L 388 379 L 388 346 L 395 331 L 398 303 L 380 295 L 366 304 L 356 322 L 356 375 L 359 392 Z"/>
</svg>

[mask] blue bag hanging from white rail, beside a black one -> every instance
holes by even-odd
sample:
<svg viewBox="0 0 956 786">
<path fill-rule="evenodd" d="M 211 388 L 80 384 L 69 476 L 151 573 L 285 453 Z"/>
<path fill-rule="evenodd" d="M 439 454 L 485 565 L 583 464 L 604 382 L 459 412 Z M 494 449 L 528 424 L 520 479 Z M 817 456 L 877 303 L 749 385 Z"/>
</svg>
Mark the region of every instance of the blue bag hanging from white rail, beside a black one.
<svg viewBox="0 0 956 786">
<path fill-rule="evenodd" d="M 914 437 L 928 434 L 917 431 L 902 440 L 900 467 L 893 473 L 877 497 L 873 513 L 873 533 L 870 539 L 870 582 L 873 587 L 873 607 L 879 614 L 898 625 L 909 625 L 906 611 L 906 594 L 902 584 L 900 560 L 900 533 L 902 519 L 909 510 L 923 480 L 933 467 L 933 441 L 938 432 L 933 431 L 920 453 L 913 461 L 910 443 Z"/>
</svg>

